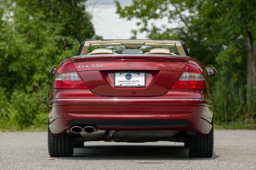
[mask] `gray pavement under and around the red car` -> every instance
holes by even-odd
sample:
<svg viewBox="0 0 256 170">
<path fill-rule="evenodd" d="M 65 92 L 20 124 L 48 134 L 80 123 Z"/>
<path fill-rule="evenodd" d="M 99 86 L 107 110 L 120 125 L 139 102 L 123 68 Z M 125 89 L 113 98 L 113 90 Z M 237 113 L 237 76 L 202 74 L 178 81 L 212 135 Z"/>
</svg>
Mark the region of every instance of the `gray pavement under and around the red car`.
<svg viewBox="0 0 256 170">
<path fill-rule="evenodd" d="M 183 143 L 85 142 L 74 157 L 48 160 L 46 132 L 0 133 L 0 169 L 256 169 L 256 130 L 215 130 L 212 158 Z"/>
</svg>

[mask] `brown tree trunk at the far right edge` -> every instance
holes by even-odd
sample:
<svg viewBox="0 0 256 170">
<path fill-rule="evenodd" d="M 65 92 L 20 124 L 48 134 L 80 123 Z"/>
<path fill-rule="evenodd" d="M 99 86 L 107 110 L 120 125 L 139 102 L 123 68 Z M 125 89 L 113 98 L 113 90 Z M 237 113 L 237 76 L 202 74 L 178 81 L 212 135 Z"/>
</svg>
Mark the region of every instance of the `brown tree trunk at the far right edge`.
<svg viewBox="0 0 256 170">
<path fill-rule="evenodd" d="M 246 81 L 246 103 L 247 114 L 253 116 L 256 105 L 256 45 L 253 45 L 251 32 L 246 29 L 247 50 L 247 81 Z M 248 118 L 248 117 L 247 117 Z"/>
</svg>

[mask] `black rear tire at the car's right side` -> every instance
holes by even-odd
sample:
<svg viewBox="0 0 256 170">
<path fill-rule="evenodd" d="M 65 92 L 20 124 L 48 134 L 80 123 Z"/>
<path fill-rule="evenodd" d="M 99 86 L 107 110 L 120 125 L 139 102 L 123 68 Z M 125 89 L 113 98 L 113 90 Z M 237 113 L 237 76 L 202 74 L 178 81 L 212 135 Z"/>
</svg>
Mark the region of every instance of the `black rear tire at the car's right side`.
<svg viewBox="0 0 256 170">
<path fill-rule="evenodd" d="M 189 143 L 189 156 L 194 158 L 210 158 L 213 155 L 213 125 L 205 137 L 192 135 Z"/>
</svg>

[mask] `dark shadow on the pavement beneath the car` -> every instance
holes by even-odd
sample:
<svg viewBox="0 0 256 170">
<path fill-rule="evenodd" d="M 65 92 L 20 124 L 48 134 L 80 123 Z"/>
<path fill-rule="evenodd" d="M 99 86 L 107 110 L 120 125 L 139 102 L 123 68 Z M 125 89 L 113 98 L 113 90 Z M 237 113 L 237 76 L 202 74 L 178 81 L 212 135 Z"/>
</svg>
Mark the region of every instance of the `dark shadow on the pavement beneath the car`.
<svg viewBox="0 0 256 170">
<path fill-rule="evenodd" d="M 188 148 L 183 146 L 123 145 L 86 146 L 75 148 L 73 157 L 57 158 L 66 160 L 212 160 L 212 158 L 190 158 Z M 143 163 L 143 162 L 142 162 Z"/>
</svg>

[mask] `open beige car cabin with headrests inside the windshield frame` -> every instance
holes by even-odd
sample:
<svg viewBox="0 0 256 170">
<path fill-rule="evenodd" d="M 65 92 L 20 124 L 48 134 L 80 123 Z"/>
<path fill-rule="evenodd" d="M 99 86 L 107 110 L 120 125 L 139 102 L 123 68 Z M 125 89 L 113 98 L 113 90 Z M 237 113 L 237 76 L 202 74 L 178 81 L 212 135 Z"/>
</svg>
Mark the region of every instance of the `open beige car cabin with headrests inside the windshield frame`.
<svg viewBox="0 0 256 170">
<path fill-rule="evenodd" d="M 77 56 L 99 54 L 146 54 L 189 56 L 180 40 L 86 40 Z"/>
</svg>

